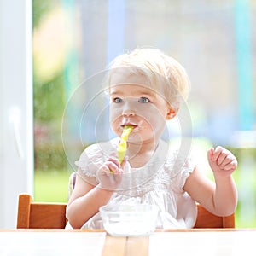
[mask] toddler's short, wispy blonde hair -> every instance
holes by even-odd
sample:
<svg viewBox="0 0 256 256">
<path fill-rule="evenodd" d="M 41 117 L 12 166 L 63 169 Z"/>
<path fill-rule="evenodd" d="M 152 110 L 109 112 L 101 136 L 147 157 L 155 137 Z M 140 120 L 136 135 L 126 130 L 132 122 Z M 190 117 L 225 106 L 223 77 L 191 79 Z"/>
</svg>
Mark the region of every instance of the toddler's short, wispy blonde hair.
<svg viewBox="0 0 256 256">
<path fill-rule="evenodd" d="M 182 101 L 189 96 L 189 77 L 184 67 L 171 56 L 165 55 L 159 49 L 134 49 L 131 53 L 119 55 L 109 65 L 106 79 L 108 88 L 111 76 L 125 68 L 131 74 L 143 74 L 154 90 L 162 86 L 163 96 L 173 108 L 179 108 Z"/>
</svg>

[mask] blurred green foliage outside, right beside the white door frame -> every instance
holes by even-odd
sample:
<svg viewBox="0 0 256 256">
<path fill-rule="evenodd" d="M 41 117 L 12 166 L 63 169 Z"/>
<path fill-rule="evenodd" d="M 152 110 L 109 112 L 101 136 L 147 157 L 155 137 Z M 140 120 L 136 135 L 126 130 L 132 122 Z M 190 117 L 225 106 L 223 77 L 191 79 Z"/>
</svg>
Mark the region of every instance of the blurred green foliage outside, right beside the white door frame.
<svg viewBox="0 0 256 256">
<path fill-rule="evenodd" d="M 33 30 L 47 19 L 49 11 L 60 1 L 32 1 Z M 33 55 L 35 57 L 35 55 Z M 51 79 L 37 77 L 40 69 L 33 62 L 33 116 L 35 125 L 34 160 L 36 170 L 67 169 L 67 159 L 61 144 L 61 119 L 64 112 L 65 80 L 64 70 Z M 43 132 L 42 132 L 43 131 Z M 42 134 L 43 133 L 43 134 Z"/>
</svg>

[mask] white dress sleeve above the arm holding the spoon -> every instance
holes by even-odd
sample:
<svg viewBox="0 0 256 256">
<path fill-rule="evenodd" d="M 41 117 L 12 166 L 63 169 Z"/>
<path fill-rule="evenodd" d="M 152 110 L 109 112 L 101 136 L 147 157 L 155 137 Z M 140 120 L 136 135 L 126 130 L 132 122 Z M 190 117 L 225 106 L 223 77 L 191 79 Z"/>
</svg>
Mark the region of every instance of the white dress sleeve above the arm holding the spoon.
<svg viewBox="0 0 256 256">
<path fill-rule="evenodd" d="M 103 154 L 99 145 L 90 145 L 80 155 L 79 160 L 75 162 L 75 165 L 79 167 L 79 176 L 95 177 L 97 179 L 97 171 L 102 166 L 103 161 Z"/>
</svg>

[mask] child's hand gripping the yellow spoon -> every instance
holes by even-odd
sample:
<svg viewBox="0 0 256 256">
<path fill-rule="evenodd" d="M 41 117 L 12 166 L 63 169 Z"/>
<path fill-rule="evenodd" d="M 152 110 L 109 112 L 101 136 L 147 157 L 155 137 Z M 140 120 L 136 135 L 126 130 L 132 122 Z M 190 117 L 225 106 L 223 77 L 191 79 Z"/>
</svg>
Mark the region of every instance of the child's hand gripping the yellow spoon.
<svg viewBox="0 0 256 256">
<path fill-rule="evenodd" d="M 97 174 L 103 189 L 115 190 L 119 187 L 124 173 L 122 169 L 124 164 L 120 165 L 118 158 L 111 155 L 100 167 Z"/>
</svg>

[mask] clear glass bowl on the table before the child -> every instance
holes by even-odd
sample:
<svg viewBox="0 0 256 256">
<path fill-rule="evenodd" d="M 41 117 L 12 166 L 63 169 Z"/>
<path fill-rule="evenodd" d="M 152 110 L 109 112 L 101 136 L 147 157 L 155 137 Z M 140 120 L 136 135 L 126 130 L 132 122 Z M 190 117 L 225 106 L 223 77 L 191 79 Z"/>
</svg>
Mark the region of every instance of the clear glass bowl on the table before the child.
<svg viewBox="0 0 256 256">
<path fill-rule="evenodd" d="M 155 230 L 159 208 L 154 205 L 100 207 L 104 229 L 112 236 L 148 236 Z"/>
</svg>

